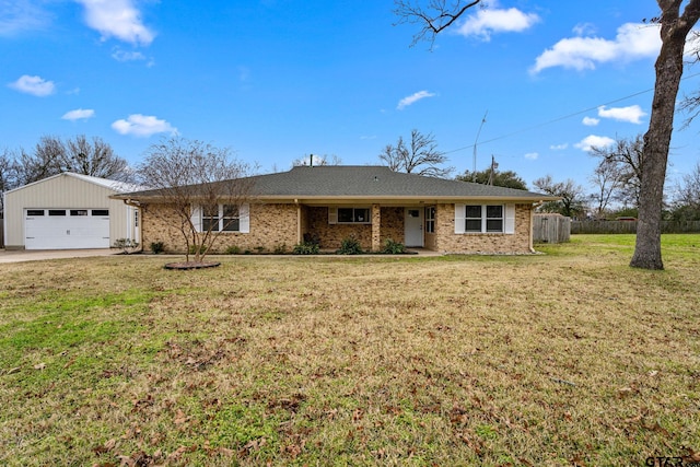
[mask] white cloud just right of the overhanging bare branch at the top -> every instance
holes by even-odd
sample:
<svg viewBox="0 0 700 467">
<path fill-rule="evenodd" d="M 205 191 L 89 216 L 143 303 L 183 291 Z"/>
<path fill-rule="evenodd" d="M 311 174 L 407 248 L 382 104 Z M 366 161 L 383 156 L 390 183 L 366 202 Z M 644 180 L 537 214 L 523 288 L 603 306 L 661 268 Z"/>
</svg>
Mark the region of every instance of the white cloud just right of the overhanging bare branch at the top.
<svg viewBox="0 0 700 467">
<path fill-rule="evenodd" d="M 539 16 L 535 13 L 523 13 L 516 8 L 499 9 L 495 8 L 495 2 L 492 2 L 491 7 L 469 15 L 457 30 L 457 34 L 489 40 L 492 33 L 520 33 L 538 21 Z"/>
</svg>

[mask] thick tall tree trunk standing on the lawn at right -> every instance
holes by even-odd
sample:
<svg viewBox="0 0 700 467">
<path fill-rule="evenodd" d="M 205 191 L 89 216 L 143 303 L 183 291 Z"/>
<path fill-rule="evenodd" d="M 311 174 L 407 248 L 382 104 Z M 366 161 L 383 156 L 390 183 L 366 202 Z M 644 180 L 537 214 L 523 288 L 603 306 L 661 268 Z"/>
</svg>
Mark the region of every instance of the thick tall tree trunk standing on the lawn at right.
<svg viewBox="0 0 700 467">
<path fill-rule="evenodd" d="M 649 131 L 644 135 L 637 244 L 630 262 L 634 268 L 664 268 L 661 257 L 661 214 L 668 147 L 674 126 L 676 96 L 682 75 L 686 36 L 698 21 L 700 0 L 692 0 L 682 17 L 679 17 L 680 3 L 680 0 L 658 0 L 662 8 L 662 47 L 655 65 L 656 83 Z"/>
</svg>

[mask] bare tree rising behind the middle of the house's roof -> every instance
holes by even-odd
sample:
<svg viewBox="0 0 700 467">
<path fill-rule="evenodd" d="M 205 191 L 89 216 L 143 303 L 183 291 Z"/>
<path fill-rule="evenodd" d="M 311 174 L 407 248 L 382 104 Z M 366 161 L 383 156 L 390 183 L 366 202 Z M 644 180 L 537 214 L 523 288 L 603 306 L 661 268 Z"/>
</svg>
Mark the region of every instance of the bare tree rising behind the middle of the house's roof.
<svg viewBox="0 0 700 467">
<path fill-rule="evenodd" d="M 445 178 L 454 171 L 454 167 L 440 167 L 447 157 L 438 151 L 433 135 L 423 135 L 418 130 L 411 130 L 409 145 L 399 137 L 396 145 L 387 144 L 378 157 L 394 172 Z"/>
</svg>

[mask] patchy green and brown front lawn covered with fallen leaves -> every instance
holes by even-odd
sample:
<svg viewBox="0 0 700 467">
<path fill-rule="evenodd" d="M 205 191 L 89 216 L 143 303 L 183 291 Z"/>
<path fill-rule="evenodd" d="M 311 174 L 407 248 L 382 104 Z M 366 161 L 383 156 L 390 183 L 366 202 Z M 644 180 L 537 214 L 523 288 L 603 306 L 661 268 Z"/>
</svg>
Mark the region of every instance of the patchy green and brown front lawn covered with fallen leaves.
<svg viewBox="0 0 700 467">
<path fill-rule="evenodd" d="M 0 464 L 628 466 L 700 451 L 700 235 L 0 271 Z"/>
</svg>

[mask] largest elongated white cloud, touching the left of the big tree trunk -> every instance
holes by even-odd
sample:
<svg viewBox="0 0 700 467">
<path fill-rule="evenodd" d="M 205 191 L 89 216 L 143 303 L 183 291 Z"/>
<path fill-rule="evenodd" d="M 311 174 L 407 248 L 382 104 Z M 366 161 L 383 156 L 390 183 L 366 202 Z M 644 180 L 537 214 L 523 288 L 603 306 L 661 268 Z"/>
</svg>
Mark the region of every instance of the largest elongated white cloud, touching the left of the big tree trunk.
<svg viewBox="0 0 700 467">
<path fill-rule="evenodd" d="M 658 55 L 660 48 L 657 26 L 626 23 L 618 27 L 612 40 L 581 36 L 559 40 L 537 57 L 530 72 L 539 73 L 552 67 L 593 70 L 596 65 L 610 61 L 654 58 Z"/>
</svg>

